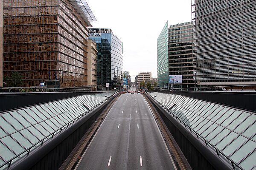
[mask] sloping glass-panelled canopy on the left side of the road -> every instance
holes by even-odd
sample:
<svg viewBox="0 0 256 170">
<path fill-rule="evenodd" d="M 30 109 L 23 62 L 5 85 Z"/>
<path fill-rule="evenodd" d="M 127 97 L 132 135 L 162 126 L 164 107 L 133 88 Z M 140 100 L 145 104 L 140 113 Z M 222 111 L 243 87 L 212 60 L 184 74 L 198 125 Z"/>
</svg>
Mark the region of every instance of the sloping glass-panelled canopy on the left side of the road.
<svg viewBox="0 0 256 170">
<path fill-rule="evenodd" d="M 82 95 L 0 113 L 0 170 L 54 138 L 111 95 Z"/>
</svg>

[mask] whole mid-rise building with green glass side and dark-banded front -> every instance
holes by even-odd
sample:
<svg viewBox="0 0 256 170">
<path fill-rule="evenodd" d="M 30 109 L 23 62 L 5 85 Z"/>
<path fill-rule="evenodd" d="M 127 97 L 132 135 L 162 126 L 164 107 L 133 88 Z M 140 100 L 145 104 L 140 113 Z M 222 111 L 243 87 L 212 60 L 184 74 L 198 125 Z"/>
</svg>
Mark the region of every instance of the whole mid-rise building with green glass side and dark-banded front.
<svg viewBox="0 0 256 170">
<path fill-rule="evenodd" d="M 158 86 L 170 88 L 169 75 L 182 75 L 176 88 L 195 86 L 192 62 L 192 23 L 165 24 L 157 39 Z"/>
</svg>

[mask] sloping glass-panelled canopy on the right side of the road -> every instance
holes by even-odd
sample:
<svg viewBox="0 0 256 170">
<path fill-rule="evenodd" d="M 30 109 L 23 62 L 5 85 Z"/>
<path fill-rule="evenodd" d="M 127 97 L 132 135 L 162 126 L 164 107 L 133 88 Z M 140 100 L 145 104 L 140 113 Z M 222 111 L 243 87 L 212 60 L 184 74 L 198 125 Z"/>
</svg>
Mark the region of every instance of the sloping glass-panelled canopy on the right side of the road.
<svg viewBox="0 0 256 170">
<path fill-rule="evenodd" d="M 181 95 L 150 95 L 241 168 L 256 168 L 256 113 Z"/>
</svg>

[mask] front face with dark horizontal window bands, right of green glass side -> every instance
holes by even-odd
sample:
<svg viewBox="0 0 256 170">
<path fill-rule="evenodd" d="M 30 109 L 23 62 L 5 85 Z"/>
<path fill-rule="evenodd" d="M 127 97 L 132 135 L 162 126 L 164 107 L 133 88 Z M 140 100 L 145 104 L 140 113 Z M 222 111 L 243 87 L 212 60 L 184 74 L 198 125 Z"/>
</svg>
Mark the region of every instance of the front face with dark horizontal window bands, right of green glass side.
<svg viewBox="0 0 256 170">
<path fill-rule="evenodd" d="M 182 75 L 178 88 L 195 86 L 192 64 L 192 23 L 181 23 L 168 28 L 169 75 Z"/>
</svg>

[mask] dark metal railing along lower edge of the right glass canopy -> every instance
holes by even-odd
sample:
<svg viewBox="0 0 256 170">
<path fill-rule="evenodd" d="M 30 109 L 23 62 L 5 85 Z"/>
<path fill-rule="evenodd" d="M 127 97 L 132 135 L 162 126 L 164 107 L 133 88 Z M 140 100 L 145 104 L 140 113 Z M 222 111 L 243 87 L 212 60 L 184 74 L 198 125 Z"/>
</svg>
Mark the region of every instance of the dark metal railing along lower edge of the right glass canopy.
<svg viewBox="0 0 256 170">
<path fill-rule="evenodd" d="M 148 92 L 145 91 L 145 93 L 148 94 Z M 150 94 L 148 94 L 148 96 L 151 96 Z M 154 97 L 151 96 L 152 99 L 154 99 L 155 102 L 157 102 L 162 108 L 164 108 L 170 115 L 172 115 L 175 119 L 177 119 L 178 122 L 180 122 L 181 125 L 183 125 L 186 129 L 189 128 L 189 131 L 191 133 L 195 133 L 195 135 L 197 136 L 198 140 L 201 138 L 204 143 L 208 146 L 210 145 L 211 147 L 213 147 L 213 149 L 216 151 L 217 155 L 221 154 L 222 156 L 224 156 L 228 161 L 230 161 L 233 169 L 235 169 L 235 166 L 238 167 L 240 170 L 244 170 L 241 166 L 239 166 L 239 164 L 237 164 L 236 162 L 234 162 L 233 160 L 231 160 L 228 156 L 226 156 L 224 153 L 221 152 L 221 150 L 219 150 L 217 147 L 215 147 L 213 144 L 211 144 L 207 139 L 204 139 L 203 136 L 201 136 L 199 133 L 197 133 L 194 129 L 192 129 L 191 127 L 189 127 L 189 125 L 186 125 L 185 122 L 183 122 L 183 120 L 181 120 L 179 117 L 177 117 L 174 113 L 172 113 L 169 109 L 167 109 L 164 105 L 162 105 L 160 102 L 157 101 L 157 99 L 155 99 Z"/>
</svg>

